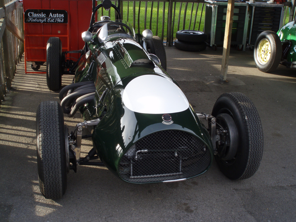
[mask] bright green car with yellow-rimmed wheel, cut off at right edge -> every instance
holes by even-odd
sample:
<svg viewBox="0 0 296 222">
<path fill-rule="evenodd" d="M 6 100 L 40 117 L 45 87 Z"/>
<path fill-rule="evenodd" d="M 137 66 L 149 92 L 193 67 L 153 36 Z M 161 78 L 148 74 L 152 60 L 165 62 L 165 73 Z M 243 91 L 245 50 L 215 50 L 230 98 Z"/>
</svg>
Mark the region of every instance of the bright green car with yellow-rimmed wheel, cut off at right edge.
<svg viewBox="0 0 296 222">
<path fill-rule="evenodd" d="M 277 33 L 260 33 L 254 45 L 254 60 L 257 68 L 265 73 L 273 72 L 279 64 L 296 68 L 296 20 Z"/>
</svg>

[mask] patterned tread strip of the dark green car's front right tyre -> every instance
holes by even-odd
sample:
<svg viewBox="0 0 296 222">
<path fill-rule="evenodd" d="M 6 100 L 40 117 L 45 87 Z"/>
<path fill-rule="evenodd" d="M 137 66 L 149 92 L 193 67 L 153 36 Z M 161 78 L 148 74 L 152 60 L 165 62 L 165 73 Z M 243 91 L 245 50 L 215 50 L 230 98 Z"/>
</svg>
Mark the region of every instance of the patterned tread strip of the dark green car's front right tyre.
<svg viewBox="0 0 296 222">
<path fill-rule="evenodd" d="M 222 94 L 219 98 L 224 96 L 230 98 L 239 109 L 245 127 L 246 147 L 249 151 L 247 160 L 241 164 L 242 168 L 237 169 L 240 172 L 231 179 L 247 179 L 258 170 L 262 159 L 263 131 L 261 120 L 256 107 L 246 95 L 234 92 Z"/>
</svg>

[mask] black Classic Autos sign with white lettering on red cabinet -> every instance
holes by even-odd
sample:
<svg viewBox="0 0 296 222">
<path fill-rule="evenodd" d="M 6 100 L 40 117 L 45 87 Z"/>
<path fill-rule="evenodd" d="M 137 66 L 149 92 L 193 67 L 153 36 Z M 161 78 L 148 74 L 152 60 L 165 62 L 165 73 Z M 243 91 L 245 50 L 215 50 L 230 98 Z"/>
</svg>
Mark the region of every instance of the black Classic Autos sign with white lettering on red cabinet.
<svg viewBox="0 0 296 222">
<path fill-rule="evenodd" d="M 25 23 L 68 23 L 68 13 L 62 9 L 27 9 Z"/>
</svg>

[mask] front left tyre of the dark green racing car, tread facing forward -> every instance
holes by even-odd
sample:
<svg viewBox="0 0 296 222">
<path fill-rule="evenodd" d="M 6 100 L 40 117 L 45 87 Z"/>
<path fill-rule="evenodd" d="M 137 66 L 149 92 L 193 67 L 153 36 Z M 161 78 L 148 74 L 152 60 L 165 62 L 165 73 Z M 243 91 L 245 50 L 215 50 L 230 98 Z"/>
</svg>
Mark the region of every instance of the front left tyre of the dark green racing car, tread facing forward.
<svg viewBox="0 0 296 222">
<path fill-rule="evenodd" d="M 59 199 L 67 188 L 67 158 L 64 116 L 58 102 L 38 106 L 36 137 L 40 191 L 47 199 Z"/>
</svg>

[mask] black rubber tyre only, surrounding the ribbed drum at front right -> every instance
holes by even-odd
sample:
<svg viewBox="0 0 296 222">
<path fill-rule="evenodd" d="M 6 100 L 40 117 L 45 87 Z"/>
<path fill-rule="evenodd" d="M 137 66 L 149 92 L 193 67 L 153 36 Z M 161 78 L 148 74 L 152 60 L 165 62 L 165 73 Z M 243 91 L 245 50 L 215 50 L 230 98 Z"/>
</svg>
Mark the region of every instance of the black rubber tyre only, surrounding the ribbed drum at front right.
<svg viewBox="0 0 296 222">
<path fill-rule="evenodd" d="M 259 114 L 252 101 L 242 93 L 222 94 L 212 111 L 214 117 L 218 116 L 218 119 L 223 121 L 219 118 L 220 114 L 228 114 L 234 120 L 238 132 L 238 146 L 234 157 L 225 159 L 223 152 L 219 150 L 218 142 L 213 144 L 218 152 L 218 155 L 215 155 L 216 162 L 231 180 L 249 178 L 257 171 L 263 153 L 263 131 Z M 219 125 L 216 126 L 218 129 Z"/>
</svg>

